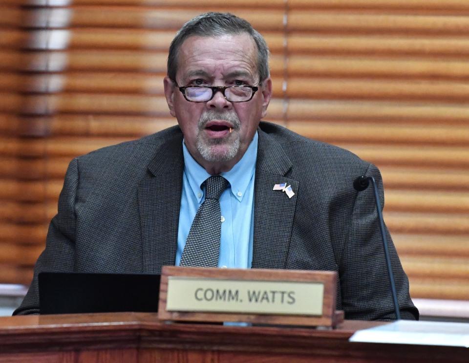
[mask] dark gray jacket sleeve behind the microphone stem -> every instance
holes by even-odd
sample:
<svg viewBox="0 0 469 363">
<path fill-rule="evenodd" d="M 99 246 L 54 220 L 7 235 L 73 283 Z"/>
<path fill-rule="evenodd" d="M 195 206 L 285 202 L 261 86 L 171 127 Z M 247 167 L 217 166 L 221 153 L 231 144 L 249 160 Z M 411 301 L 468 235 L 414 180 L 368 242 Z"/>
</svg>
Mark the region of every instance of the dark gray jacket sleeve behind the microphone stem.
<svg viewBox="0 0 469 363">
<path fill-rule="evenodd" d="M 381 205 L 384 206 L 380 172 L 370 165 L 366 175 L 375 178 Z M 357 194 L 353 206 L 349 235 L 340 263 L 342 308 L 347 319 L 394 320 L 379 218 L 371 187 Z M 407 276 L 387 228 L 386 234 L 401 318 L 418 319 L 418 311 L 409 297 Z"/>
</svg>

